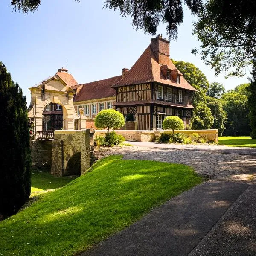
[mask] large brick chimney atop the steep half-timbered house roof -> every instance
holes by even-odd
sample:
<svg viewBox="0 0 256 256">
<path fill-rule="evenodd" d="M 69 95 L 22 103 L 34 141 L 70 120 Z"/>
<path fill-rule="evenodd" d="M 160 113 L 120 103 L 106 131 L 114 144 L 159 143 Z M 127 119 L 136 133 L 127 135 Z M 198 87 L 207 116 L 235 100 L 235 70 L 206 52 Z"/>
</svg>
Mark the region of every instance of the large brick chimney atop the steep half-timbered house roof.
<svg viewBox="0 0 256 256">
<path fill-rule="evenodd" d="M 170 41 L 158 35 L 151 39 L 151 49 L 161 65 L 169 65 L 170 62 Z"/>
</svg>

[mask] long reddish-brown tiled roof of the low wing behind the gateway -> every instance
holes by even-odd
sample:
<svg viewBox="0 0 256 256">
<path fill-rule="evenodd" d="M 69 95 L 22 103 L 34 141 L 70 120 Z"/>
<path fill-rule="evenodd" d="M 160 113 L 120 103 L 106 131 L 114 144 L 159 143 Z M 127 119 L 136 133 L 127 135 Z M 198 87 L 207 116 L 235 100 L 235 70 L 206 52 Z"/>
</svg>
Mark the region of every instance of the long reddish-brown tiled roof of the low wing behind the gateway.
<svg viewBox="0 0 256 256">
<path fill-rule="evenodd" d="M 114 97 L 116 96 L 116 90 L 111 88 L 111 86 L 121 79 L 122 75 L 87 84 L 80 84 L 82 87 L 76 94 L 74 102 Z"/>
</svg>

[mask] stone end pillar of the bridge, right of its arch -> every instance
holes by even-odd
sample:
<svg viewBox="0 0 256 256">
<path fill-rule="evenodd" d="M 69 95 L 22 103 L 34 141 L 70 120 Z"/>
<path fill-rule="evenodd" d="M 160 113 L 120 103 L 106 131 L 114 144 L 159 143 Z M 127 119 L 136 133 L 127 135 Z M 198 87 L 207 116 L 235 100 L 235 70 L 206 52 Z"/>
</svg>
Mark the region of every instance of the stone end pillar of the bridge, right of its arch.
<svg viewBox="0 0 256 256">
<path fill-rule="evenodd" d="M 84 139 L 81 141 L 81 175 L 88 171 L 94 158 L 94 129 L 86 129 Z"/>
</svg>

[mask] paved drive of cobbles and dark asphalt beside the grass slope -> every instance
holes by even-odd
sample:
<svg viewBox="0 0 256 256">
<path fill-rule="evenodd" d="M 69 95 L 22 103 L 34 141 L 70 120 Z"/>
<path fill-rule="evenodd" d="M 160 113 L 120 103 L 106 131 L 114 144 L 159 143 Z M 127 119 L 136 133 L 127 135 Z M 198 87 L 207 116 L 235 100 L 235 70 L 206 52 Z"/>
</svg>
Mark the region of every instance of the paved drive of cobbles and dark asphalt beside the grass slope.
<svg viewBox="0 0 256 256">
<path fill-rule="evenodd" d="M 109 154 L 187 164 L 211 180 L 82 256 L 256 256 L 256 149 L 131 144 Z"/>
</svg>

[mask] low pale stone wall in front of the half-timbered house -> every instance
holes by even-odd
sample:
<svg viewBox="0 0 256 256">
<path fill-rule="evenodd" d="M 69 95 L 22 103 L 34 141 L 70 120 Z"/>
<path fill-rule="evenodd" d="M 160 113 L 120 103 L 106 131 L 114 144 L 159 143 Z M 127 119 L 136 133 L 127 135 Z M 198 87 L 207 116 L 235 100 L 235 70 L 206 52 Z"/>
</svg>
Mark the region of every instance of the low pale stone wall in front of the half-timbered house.
<svg viewBox="0 0 256 256">
<path fill-rule="evenodd" d="M 111 130 L 112 131 L 112 130 Z M 102 135 L 105 136 L 106 130 L 95 130 L 94 137 L 96 135 Z M 155 137 L 160 136 L 162 133 L 172 134 L 172 131 L 169 130 L 161 130 L 161 131 L 127 131 L 127 130 L 115 130 L 117 134 L 121 134 L 123 137 L 125 137 L 125 140 L 128 141 L 154 141 Z M 217 129 L 211 129 L 211 130 L 179 130 L 174 131 L 175 133 L 183 133 L 187 136 L 191 137 L 191 139 L 194 139 L 193 133 L 198 133 L 199 138 L 204 138 L 209 141 L 218 143 L 218 130 Z"/>
</svg>

